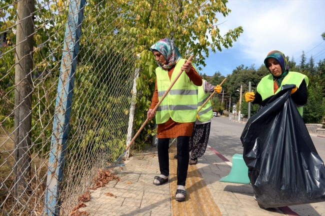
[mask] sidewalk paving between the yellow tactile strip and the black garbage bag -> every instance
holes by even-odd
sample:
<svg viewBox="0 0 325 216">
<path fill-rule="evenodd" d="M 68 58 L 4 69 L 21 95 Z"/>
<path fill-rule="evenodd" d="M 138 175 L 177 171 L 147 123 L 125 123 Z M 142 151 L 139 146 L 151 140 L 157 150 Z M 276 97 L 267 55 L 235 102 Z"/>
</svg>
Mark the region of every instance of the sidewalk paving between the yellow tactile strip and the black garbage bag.
<svg viewBox="0 0 325 216">
<path fill-rule="evenodd" d="M 260 208 L 250 184 L 219 182 L 230 172 L 228 163 L 207 148 L 196 164 L 222 215 L 285 215 L 278 208 Z"/>
</svg>

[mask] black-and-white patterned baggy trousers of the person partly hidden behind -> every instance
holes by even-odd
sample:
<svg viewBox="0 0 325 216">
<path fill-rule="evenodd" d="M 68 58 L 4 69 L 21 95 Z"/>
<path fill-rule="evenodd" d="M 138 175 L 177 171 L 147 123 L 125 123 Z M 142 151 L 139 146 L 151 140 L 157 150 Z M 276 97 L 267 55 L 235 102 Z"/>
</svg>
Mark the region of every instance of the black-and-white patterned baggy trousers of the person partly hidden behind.
<svg viewBox="0 0 325 216">
<path fill-rule="evenodd" d="M 211 122 L 204 124 L 195 124 L 193 127 L 192 136 L 189 138 L 189 151 L 191 157 L 203 156 L 207 141 L 209 140 Z"/>
</svg>

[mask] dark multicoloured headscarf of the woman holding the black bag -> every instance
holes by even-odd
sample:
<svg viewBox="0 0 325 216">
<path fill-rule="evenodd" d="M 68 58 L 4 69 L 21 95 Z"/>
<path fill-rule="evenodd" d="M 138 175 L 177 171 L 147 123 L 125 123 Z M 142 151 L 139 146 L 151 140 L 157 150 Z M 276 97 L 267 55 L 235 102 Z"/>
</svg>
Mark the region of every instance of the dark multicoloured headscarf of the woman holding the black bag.
<svg viewBox="0 0 325 216">
<path fill-rule="evenodd" d="M 273 80 L 276 79 L 277 85 L 280 86 L 283 78 L 289 72 L 289 65 L 287 63 L 287 60 L 285 58 L 285 55 L 282 52 L 280 52 L 280 51 L 274 50 L 274 51 L 270 51 L 267 54 L 267 56 L 266 56 L 266 58 L 264 60 L 264 64 L 265 64 L 265 66 L 266 66 L 267 69 L 268 69 L 267 59 L 270 58 L 270 57 L 275 58 L 279 62 L 280 66 L 281 66 L 281 69 L 282 69 L 281 75 L 279 75 L 279 76 L 274 76 L 273 75 Z M 268 69 L 268 71 L 269 71 L 269 69 Z"/>
</svg>

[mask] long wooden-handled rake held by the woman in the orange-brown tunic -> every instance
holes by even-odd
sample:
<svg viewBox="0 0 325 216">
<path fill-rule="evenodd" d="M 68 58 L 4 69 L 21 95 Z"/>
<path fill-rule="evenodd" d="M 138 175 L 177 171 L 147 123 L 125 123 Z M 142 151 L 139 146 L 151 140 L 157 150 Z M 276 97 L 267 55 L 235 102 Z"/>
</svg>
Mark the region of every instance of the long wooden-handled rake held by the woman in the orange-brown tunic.
<svg viewBox="0 0 325 216">
<path fill-rule="evenodd" d="M 192 59 L 193 55 L 189 56 L 187 61 L 190 61 Z M 183 71 L 179 71 L 179 73 L 176 75 L 176 77 L 174 78 L 174 80 L 171 82 L 171 84 L 169 85 L 169 87 L 167 88 L 167 90 L 165 91 L 165 93 L 162 95 L 161 99 L 158 101 L 158 103 L 154 106 L 154 108 L 152 109 L 152 111 L 156 111 L 158 106 L 160 105 L 160 103 L 162 102 L 162 100 L 165 98 L 165 96 L 168 94 L 170 88 L 175 84 L 175 82 L 177 81 L 178 77 L 181 75 Z M 149 119 L 145 119 L 145 121 L 143 122 L 143 124 L 141 125 L 141 127 L 137 130 L 137 132 L 135 133 L 135 135 L 133 136 L 132 140 L 128 143 L 128 145 L 126 146 L 124 152 L 114 161 L 112 162 L 109 166 L 106 166 L 106 169 L 111 169 L 110 172 L 113 173 L 118 173 L 120 171 L 125 170 L 125 164 L 124 164 L 124 160 L 123 160 L 123 156 L 126 155 L 126 151 L 127 149 L 131 146 L 131 144 L 133 144 L 135 138 L 139 135 L 139 133 L 141 132 L 141 130 L 144 128 L 145 124 L 149 121 Z"/>
</svg>

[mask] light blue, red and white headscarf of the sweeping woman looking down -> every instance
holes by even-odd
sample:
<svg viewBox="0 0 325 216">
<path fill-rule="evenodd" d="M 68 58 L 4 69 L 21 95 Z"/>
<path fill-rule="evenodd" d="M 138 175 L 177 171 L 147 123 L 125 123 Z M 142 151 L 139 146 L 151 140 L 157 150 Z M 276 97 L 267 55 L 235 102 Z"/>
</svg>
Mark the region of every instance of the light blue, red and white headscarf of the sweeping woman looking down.
<svg viewBox="0 0 325 216">
<path fill-rule="evenodd" d="M 166 60 L 166 64 L 161 65 L 160 62 L 157 62 L 158 66 L 162 69 L 169 69 L 177 63 L 181 58 L 181 55 L 175 45 L 175 43 L 167 38 L 161 39 L 158 42 L 154 43 L 150 50 L 160 52 Z"/>
</svg>

